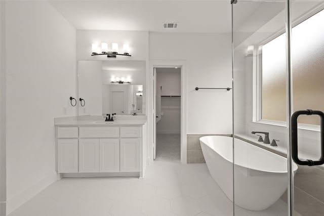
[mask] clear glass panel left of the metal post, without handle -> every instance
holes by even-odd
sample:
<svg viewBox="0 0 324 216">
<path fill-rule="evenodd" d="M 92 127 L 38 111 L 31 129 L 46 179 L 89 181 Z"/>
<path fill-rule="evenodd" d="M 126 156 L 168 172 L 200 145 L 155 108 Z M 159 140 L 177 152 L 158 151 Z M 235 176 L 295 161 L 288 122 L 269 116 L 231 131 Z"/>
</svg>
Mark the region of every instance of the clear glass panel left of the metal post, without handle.
<svg viewBox="0 0 324 216">
<path fill-rule="evenodd" d="M 232 36 L 234 215 L 288 215 L 286 2 L 238 0 Z"/>
</svg>

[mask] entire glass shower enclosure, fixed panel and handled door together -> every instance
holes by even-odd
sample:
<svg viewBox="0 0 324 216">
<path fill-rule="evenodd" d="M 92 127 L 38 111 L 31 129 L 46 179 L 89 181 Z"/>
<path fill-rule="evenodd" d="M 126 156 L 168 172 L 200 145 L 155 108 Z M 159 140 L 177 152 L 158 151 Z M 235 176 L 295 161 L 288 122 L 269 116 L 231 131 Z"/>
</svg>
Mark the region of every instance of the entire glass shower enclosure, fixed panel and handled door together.
<svg viewBox="0 0 324 216">
<path fill-rule="evenodd" d="M 324 215 L 324 1 L 232 0 L 234 215 Z"/>
</svg>

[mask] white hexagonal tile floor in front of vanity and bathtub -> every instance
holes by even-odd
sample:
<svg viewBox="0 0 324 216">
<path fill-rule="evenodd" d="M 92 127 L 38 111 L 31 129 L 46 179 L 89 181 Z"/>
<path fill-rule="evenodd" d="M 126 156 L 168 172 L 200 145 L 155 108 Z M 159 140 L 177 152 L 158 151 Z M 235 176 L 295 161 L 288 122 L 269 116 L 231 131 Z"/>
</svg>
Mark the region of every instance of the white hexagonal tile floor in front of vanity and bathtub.
<svg viewBox="0 0 324 216">
<path fill-rule="evenodd" d="M 227 216 L 232 202 L 211 178 L 206 164 L 155 161 L 144 179 L 64 178 L 10 216 Z M 264 211 L 235 207 L 235 215 L 284 216 L 278 200 Z"/>
</svg>

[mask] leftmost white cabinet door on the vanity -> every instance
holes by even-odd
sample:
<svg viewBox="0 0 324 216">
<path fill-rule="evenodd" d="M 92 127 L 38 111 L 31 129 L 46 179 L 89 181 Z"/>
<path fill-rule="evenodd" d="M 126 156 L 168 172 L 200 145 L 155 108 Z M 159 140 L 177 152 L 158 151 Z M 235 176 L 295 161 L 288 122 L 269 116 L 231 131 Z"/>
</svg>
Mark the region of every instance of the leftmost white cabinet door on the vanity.
<svg viewBox="0 0 324 216">
<path fill-rule="evenodd" d="M 77 172 L 77 139 L 59 139 L 57 141 L 57 171 Z"/>
</svg>

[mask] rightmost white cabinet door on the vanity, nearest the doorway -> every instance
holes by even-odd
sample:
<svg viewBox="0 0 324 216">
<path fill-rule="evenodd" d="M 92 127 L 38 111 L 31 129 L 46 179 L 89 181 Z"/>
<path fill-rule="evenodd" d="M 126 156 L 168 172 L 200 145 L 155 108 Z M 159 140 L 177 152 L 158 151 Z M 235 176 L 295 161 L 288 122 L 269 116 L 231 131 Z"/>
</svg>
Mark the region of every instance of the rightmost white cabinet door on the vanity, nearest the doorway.
<svg viewBox="0 0 324 216">
<path fill-rule="evenodd" d="M 120 139 L 120 171 L 140 171 L 140 144 L 137 139 Z"/>
</svg>

